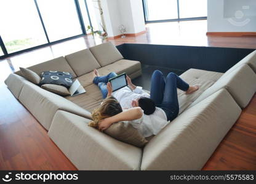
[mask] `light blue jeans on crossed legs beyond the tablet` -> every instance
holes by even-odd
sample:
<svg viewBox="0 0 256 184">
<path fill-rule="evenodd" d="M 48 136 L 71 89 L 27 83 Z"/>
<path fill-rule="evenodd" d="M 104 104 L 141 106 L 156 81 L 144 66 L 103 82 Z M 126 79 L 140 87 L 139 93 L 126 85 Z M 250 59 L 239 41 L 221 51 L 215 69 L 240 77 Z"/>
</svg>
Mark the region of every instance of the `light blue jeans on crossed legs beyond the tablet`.
<svg viewBox="0 0 256 184">
<path fill-rule="evenodd" d="M 103 99 L 105 99 L 106 96 L 108 95 L 108 89 L 106 88 L 106 83 L 108 83 L 108 79 L 116 77 L 117 75 L 118 74 L 116 74 L 115 72 L 111 72 L 110 74 L 105 76 L 95 77 L 94 80 L 92 81 L 93 83 L 98 85 L 98 87 L 100 88 L 100 91 L 102 91 Z"/>
</svg>

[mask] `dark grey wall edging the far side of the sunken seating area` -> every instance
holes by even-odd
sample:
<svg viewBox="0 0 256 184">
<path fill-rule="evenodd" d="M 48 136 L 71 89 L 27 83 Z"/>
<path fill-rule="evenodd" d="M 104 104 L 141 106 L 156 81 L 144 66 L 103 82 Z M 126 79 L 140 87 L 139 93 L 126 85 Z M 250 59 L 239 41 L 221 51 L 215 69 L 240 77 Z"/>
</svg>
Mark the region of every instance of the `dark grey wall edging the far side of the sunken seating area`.
<svg viewBox="0 0 256 184">
<path fill-rule="evenodd" d="M 177 45 L 122 44 L 118 50 L 124 58 L 142 64 L 188 70 L 190 68 L 225 72 L 253 49 L 191 47 Z"/>
</svg>

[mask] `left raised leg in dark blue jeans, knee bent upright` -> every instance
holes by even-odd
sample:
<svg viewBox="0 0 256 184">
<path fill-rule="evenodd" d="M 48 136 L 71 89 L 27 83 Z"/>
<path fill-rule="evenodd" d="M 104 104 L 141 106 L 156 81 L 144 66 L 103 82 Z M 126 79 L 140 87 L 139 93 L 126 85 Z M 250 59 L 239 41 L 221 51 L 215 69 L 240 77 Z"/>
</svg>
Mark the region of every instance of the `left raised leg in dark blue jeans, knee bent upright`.
<svg viewBox="0 0 256 184">
<path fill-rule="evenodd" d="M 165 83 L 166 82 L 162 72 L 158 70 L 154 71 L 151 77 L 150 98 L 156 103 L 157 106 L 162 104 Z"/>
</svg>

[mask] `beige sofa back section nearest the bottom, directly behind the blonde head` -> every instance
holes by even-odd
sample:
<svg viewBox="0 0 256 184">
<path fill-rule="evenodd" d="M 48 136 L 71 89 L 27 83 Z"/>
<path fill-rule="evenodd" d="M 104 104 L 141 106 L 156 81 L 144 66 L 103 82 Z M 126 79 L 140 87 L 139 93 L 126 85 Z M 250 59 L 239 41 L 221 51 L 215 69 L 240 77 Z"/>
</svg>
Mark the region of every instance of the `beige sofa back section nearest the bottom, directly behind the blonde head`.
<svg viewBox="0 0 256 184">
<path fill-rule="evenodd" d="M 89 127 L 90 120 L 58 110 L 49 137 L 79 170 L 137 170 L 142 150 Z"/>
</svg>

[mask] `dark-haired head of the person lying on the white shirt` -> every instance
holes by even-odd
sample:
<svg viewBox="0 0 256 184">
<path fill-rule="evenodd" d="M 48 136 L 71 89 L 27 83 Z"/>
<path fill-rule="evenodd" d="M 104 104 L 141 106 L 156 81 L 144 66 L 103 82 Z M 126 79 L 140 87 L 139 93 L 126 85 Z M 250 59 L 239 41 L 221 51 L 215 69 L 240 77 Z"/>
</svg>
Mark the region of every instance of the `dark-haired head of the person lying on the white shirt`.
<svg viewBox="0 0 256 184">
<path fill-rule="evenodd" d="M 150 98 L 142 97 L 132 101 L 132 107 L 140 107 L 145 115 L 151 115 L 156 110 L 156 104 Z"/>
</svg>

